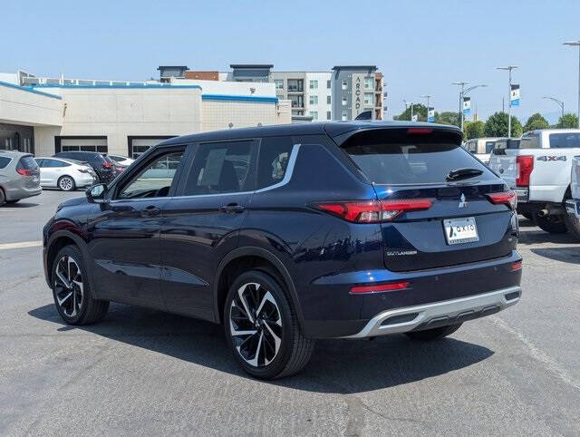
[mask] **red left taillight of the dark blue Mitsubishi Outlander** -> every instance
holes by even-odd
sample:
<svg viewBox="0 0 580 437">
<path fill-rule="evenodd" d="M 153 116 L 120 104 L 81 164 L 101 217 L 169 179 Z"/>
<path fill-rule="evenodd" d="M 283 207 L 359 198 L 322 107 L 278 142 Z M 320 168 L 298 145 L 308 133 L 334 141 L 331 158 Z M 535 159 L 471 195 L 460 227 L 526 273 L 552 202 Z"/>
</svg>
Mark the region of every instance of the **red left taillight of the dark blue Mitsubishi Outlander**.
<svg viewBox="0 0 580 437">
<path fill-rule="evenodd" d="M 324 202 L 314 207 L 353 223 L 390 221 L 404 212 L 430 209 L 430 199 L 367 200 L 362 202 Z"/>
</svg>

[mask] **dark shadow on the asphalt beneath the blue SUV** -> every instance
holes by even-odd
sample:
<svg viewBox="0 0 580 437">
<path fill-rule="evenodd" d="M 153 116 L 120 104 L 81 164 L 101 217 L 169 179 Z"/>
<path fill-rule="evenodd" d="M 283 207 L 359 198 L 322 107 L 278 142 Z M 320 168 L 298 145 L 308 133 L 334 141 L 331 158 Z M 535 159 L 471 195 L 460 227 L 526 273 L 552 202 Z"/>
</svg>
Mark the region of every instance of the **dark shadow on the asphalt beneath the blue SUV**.
<svg viewBox="0 0 580 437">
<path fill-rule="evenodd" d="M 53 305 L 28 314 L 53 322 L 55 331 L 79 329 L 251 379 L 237 366 L 221 325 L 121 304 L 111 304 L 107 316 L 96 325 L 65 325 Z M 300 374 L 266 384 L 318 393 L 362 393 L 447 374 L 492 354 L 485 346 L 454 338 L 433 343 L 411 341 L 405 335 L 372 341 L 324 340 L 316 344 Z"/>
</svg>

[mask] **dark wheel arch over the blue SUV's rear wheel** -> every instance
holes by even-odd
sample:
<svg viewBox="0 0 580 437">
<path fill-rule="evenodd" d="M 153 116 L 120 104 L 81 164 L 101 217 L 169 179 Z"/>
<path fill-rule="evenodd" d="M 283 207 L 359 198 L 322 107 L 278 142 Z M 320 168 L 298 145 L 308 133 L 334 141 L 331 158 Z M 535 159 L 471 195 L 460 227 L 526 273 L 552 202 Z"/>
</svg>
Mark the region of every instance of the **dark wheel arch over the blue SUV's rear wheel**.
<svg viewBox="0 0 580 437">
<path fill-rule="evenodd" d="M 223 321 L 223 306 L 226 302 L 229 284 L 246 269 L 263 270 L 281 282 L 288 290 L 296 316 L 303 325 L 302 308 L 296 295 L 295 284 L 284 263 L 275 254 L 265 248 L 247 247 L 232 250 L 218 265 L 214 280 L 214 316 L 217 323 Z"/>
</svg>

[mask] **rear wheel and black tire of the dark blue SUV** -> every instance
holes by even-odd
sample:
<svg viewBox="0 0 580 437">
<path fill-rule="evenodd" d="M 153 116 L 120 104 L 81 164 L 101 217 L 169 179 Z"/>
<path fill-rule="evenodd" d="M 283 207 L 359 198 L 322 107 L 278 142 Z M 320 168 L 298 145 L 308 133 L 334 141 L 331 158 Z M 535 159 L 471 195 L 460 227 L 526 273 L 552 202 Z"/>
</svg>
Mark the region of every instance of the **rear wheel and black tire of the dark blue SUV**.
<svg viewBox="0 0 580 437">
<path fill-rule="evenodd" d="M 268 292 L 270 296 L 267 296 Z M 269 297 L 274 299 L 274 303 Z M 259 313 L 256 313 L 256 308 L 261 308 Z M 245 316 L 245 309 L 252 314 L 250 318 Z M 237 363 L 247 374 L 260 379 L 296 374 L 308 363 L 314 349 L 314 340 L 304 337 L 300 330 L 285 286 L 274 275 L 264 271 L 243 273 L 230 286 L 224 306 L 224 327 L 227 344 Z M 234 335 L 233 331 L 255 332 Z M 279 342 L 276 342 L 276 337 Z"/>
</svg>

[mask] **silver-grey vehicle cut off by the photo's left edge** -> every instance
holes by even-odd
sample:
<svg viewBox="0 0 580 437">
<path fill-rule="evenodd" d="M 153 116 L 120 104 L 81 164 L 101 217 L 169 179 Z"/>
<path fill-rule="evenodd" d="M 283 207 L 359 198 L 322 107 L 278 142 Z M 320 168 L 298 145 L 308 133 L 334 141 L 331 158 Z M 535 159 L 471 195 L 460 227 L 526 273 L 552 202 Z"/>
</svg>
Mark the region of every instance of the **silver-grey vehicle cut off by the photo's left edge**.
<svg viewBox="0 0 580 437">
<path fill-rule="evenodd" d="M 0 151 L 0 206 L 38 196 L 40 172 L 33 155 L 20 151 Z"/>
</svg>

